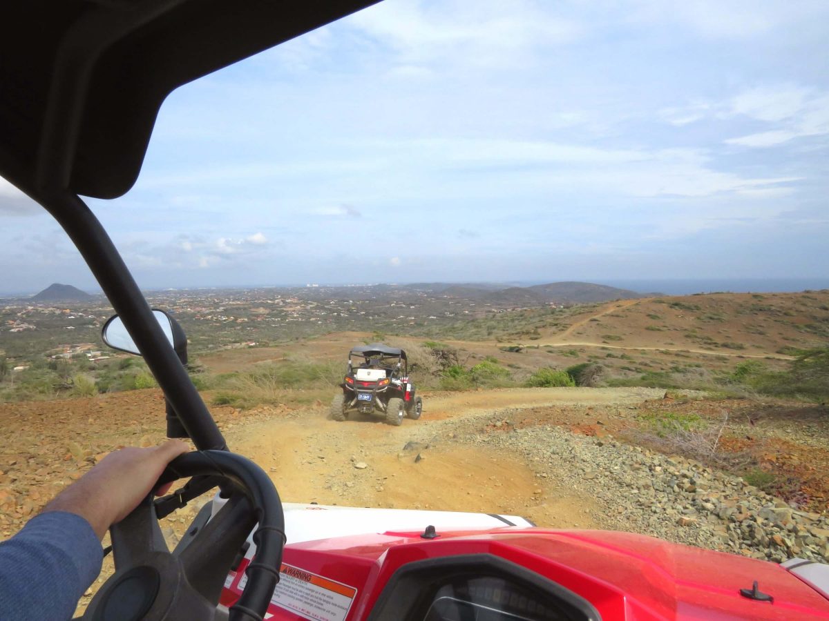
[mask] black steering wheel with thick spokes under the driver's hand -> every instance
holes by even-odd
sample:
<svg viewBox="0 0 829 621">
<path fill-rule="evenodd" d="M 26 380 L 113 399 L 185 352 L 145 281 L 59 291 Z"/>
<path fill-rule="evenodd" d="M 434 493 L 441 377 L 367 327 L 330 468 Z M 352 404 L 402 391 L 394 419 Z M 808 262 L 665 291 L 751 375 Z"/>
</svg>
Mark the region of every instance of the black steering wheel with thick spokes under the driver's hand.
<svg viewBox="0 0 829 621">
<path fill-rule="evenodd" d="M 279 581 L 285 543 L 274 484 L 258 465 L 224 450 L 178 456 L 158 485 L 182 477 L 214 478 L 211 483 L 223 482 L 230 498 L 206 524 L 201 522 L 209 505 L 203 509 L 188 537 L 171 552 L 158 526 L 153 493 L 148 494 L 133 513 L 110 527 L 115 573 L 90 602 L 84 621 L 262 621 Z M 245 591 L 225 616 L 216 609 L 225 576 L 256 524 L 256 556 L 245 570 Z"/>
</svg>

